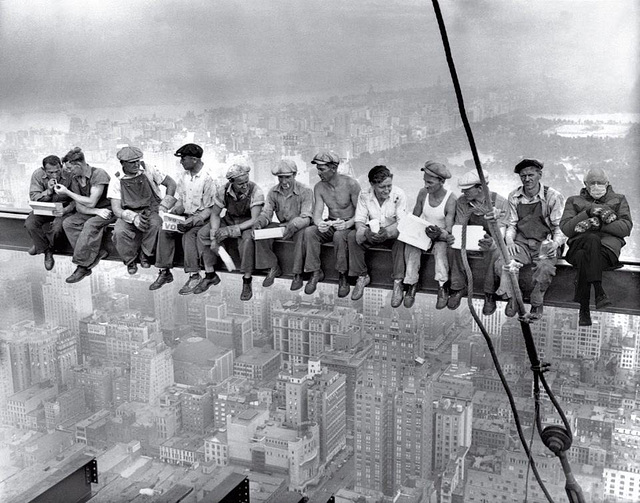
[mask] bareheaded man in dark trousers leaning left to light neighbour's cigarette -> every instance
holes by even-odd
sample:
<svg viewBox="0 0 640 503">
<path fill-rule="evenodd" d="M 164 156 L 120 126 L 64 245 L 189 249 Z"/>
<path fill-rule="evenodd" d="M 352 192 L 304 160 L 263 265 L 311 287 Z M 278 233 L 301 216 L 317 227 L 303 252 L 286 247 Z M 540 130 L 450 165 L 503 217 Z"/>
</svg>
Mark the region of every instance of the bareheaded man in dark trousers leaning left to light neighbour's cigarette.
<svg viewBox="0 0 640 503">
<path fill-rule="evenodd" d="M 68 196 L 76 203 L 75 212 L 62 222 L 67 239 L 73 247 L 73 263 L 76 270 L 65 281 L 77 283 L 91 274 L 91 269 L 106 258 L 109 252 L 102 248 L 105 228 L 115 222 L 116 217 L 107 199 L 107 186 L 111 177 L 101 169 L 89 166 L 84 152 L 76 147 L 64 156 L 62 162 L 71 169 L 69 188 L 56 184 L 56 194 Z"/>
</svg>

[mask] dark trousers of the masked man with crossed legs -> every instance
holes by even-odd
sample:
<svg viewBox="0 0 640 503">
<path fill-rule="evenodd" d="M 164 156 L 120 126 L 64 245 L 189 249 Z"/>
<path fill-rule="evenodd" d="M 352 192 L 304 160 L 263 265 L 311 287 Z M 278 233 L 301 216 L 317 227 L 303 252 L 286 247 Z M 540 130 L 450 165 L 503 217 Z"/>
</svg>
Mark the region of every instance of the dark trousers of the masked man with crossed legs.
<svg viewBox="0 0 640 503">
<path fill-rule="evenodd" d="M 618 257 L 602 246 L 597 232 L 585 232 L 571 240 L 566 261 L 577 269 L 576 299 L 588 301 L 589 283 L 602 281 L 602 271 L 618 263 Z"/>
</svg>

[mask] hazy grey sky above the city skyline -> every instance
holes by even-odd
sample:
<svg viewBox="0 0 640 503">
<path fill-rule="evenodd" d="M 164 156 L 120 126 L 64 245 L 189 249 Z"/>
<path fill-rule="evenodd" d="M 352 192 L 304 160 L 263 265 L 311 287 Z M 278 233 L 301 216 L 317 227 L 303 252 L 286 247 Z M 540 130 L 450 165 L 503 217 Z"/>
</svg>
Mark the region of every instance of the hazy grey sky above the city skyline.
<svg viewBox="0 0 640 503">
<path fill-rule="evenodd" d="M 638 4 L 441 1 L 463 87 L 551 78 L 596 105 L 638 90 Z M 219 105 L 438 76 L 430 0 L 0 0 L 0 110 Z"/>
</svg>

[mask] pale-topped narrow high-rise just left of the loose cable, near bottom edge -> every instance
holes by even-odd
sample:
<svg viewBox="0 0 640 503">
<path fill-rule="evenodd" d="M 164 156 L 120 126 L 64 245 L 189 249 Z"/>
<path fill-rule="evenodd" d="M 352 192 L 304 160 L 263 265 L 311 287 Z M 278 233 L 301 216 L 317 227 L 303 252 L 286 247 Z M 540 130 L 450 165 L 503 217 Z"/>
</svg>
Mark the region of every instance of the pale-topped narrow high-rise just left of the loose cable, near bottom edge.
<svg viewBox="0 0 640 503">
<path fill-rule="evenodd" d="M 473 403 L 459 398 L 442 398 L 433 410 L 433 472 L 440 473 L 458 448 L 471 447 Z"/>
</svg>

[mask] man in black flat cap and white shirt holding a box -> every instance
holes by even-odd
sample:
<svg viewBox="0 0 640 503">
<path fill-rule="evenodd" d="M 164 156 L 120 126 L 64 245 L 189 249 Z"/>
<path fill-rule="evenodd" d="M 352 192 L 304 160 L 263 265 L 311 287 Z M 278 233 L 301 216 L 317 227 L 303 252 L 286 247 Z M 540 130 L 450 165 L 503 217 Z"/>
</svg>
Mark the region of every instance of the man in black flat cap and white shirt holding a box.
<svg viewBox="0 0 640 503">
<path fill-rule="evenodd" d="M 202 162 L 202 147 L 195 143 L 187 143 L 174 154 L 180 157 L 183 172 L 178 178 L 175 193 L 176 202 L 167 208 L 166 213 L 182 215 L 184 223 L 178 224 L 178 232 L 161 230 L 158 233 L 156 251 L 156 267 L 160 270 L 158 278 L 149 285 L 149 290 L 157 290 L 173 281 L 171 268 L 175 254 L 176 238 L 182 234 L 182 250 L 184 252 L 184 272 L 189 274 L 187 282 L 178 290 L 180 295 L 193 293 L 200 283 L 200 254 L 198 231 L 209 220 L 213 207 L 216 183 Z M 171 201 L 164 201 L 170 204 Z"/>
</svg>

